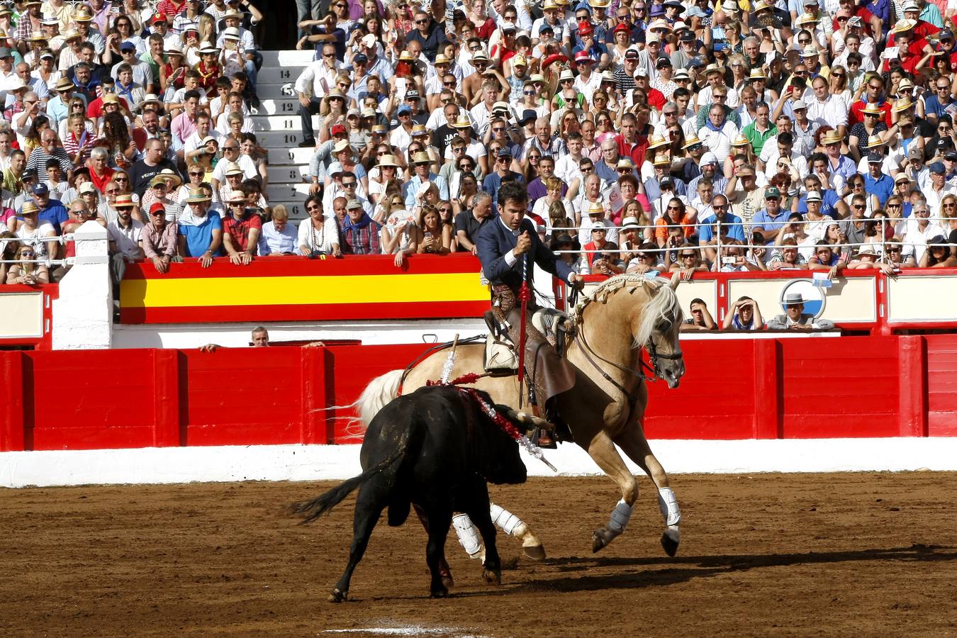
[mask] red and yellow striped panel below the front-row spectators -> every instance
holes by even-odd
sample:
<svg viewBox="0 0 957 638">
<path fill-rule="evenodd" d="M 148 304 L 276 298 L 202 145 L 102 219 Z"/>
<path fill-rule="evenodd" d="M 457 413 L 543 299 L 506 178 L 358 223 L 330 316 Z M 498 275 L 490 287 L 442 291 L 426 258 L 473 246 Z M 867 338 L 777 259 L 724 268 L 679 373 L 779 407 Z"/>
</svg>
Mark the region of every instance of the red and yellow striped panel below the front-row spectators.
<svg viewBox="0 0 957 638">
<path fill-rule="evenodd" d="M 120 285 L 122 323 L 452 319 L 480 317 L 489 294 L 471 254 L 413 255 L 405 269 L 389 256 L 217 258 L 130 265 Z"/>
</svg>

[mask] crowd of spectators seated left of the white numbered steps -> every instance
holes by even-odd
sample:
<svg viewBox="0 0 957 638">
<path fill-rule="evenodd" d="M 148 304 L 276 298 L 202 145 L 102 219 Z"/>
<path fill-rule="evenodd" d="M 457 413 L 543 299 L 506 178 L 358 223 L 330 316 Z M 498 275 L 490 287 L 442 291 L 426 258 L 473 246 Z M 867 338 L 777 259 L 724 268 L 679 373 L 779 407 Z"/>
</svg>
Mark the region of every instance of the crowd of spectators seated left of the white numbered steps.
<svg viewBox="0 0 957 638">
<path fill-rule="evenodd" d="M 62 238 L 91 220 L 116 276 L 144 257 L 248 262 L 247 227 L 268 247 L 282 211 L 252 132 L 261 19 L 249 0 L 0 4 L 0 282 L 58 280 Z"/>
</svg>

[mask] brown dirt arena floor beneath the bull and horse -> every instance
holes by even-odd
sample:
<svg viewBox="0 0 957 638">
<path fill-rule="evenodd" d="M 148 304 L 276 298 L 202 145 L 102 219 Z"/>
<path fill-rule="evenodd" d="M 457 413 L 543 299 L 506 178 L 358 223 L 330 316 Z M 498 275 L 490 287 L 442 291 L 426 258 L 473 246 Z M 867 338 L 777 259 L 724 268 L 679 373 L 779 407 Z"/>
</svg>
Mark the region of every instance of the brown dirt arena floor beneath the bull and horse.
<svg viewBox="0 0 957 638">
<path fill-rule="evenodd" d="M 493 488 L 545 541 L 502 539 L 501 587 L 454 537 L 454 595 L 428 597 L 418 523 L 376 528 L 350 601 L 352 499 L 311 526 L 279 514 L 331 483 L 0 491 L 4 636 L 957 634 L 954 473 L 678 475 L 675 559 L 650 484 L 626 534 L 591 531 L 603 478 Z"/>
</svg>

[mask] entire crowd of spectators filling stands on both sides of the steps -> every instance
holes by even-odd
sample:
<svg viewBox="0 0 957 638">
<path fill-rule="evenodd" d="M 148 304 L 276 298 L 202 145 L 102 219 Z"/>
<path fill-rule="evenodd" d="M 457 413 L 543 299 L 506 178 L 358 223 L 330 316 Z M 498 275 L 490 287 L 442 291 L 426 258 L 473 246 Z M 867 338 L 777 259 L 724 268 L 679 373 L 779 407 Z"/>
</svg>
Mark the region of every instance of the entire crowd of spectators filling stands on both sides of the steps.
<svg viewBox="0 0 957 638">
<path fill-rule="evenodd" d="M 302 220 L 264 196 L 247 0 L 0 9 L 0 232 L 57 256 L 37 238 L 96 219 L 117 275 L 401 265 L 474 251 L 516 181 L 581 274 L 957 266 L 948 0 L 297 6 Z"/>
</svg>

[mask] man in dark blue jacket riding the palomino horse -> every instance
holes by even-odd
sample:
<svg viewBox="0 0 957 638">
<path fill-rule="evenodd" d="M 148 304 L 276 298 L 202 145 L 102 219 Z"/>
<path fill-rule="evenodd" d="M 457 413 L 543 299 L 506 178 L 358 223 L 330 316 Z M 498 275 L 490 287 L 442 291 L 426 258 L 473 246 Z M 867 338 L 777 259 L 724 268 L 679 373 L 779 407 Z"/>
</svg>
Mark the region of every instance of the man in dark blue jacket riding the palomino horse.
<svg viewBox="0 0 957 638">
<path fill-rule="evenodd" d="M 479 231 L 476 245 L 482 272 L 492 286 L 492 315 L 504 326 L 518 350 L 521 342 L 522 313 L 520 295 L 523 281 L 531 290 L 534 264 L 546 273 L 558 276 L 575 287 L 584 279 L 574 273 L 568 264 L 549 251 L 525 218 L 528 193 L 516 182 L 503 184 L 498 193 L 499 216 Z M 554 346 L 531 324 L 538 306 L 529 299 L 525 317 L 525 370 L 529 380 L 529 403 L 550 410 L 549 399 L 565 392 L 575 384 L 574 369 L 562 359 Z M 550 420 L 550 419 L 549 419 Z M 542 447 L 553 445 L 546 432 L 539 439 Z"/>
</svg>

